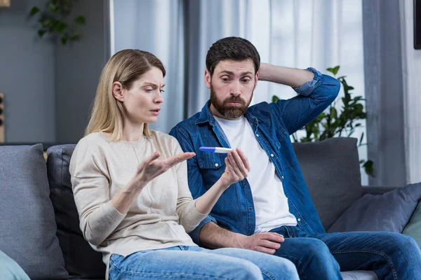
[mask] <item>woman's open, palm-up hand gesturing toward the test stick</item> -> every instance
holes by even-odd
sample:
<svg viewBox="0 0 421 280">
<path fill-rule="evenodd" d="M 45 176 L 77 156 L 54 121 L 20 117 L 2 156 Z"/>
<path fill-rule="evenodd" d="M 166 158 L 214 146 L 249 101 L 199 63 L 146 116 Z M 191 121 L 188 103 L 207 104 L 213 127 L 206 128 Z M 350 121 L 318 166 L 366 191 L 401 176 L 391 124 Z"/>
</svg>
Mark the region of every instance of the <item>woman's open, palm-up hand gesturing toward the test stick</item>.
<svg viewBox="0 0 421 280">
<path fill-rule="evenodd" d="M 143 162 L 138 165 L 136 169 L 136 174 L 133 177 L 135 185 L 138 188 L 143 188 L 152 181 L 157 176 L 163 174 L 168 169 L 177 165 L 178 163 L 193 158 L 195 153 L 180 153 L 178 155 L 173 155 L 170 158 L 165 158 L 163 160 L 158 160 L 161 156 L 161 153 L 155 152 L 153 155 L 145 158 Z"/>
</svg>

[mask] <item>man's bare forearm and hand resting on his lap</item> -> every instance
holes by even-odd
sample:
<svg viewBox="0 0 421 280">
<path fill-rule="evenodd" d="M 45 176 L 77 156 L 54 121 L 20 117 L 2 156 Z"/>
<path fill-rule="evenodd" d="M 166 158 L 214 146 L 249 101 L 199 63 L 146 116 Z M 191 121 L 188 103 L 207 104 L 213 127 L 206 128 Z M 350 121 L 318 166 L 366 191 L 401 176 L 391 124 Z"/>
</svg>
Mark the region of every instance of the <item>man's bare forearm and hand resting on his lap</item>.
<svg viewBox="0 0 421 280">
<path fill-rule="evenodd" d="M 206 223 L 200 230 L 201 244 L 208 248 L 245 248 L 253 251 L 274 254 L 281 248 L 283 236 L 275 232 L 262 232 L 254 235 L 241 235 L 221 228 L 215 223 Z"/>
</svg>

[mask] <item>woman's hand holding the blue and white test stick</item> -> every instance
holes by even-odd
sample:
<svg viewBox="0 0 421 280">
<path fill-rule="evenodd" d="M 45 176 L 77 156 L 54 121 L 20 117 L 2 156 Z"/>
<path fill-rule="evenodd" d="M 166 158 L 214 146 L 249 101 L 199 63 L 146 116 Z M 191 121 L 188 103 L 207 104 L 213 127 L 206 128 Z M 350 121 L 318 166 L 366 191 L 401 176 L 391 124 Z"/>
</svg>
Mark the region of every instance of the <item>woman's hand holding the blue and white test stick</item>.
<svg viewBox="0 0 421 280">
<path fill-rule="evenodd" d="M 250 172 L 248 159 L 240 148 L 236 148 L 228 153 L 227 158 L 225 158 L 225 165 L 225 172 L 222 174 L 221 180 L 227 188 L 233 183 L 246 178 L 248 172 Z"/>
</svg>

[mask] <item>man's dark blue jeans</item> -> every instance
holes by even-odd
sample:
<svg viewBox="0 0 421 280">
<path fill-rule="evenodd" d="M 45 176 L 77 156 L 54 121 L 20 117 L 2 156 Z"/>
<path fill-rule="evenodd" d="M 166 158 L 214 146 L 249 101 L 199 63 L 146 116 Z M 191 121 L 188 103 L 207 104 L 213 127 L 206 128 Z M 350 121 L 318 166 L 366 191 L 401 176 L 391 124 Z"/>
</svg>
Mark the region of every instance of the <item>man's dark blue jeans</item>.
<svg viewBox="0 0 421 280">
<path fill-rule="evenodd" d="M 299 227 L 271 230 L 285 237 L 276 255 L 294 262 L 300 279 L 342 279 L 340 270 L 373 270 L 379 279 L 421 279 L 421 251 L 396 232 L 308 235 Z"/>
</svg>

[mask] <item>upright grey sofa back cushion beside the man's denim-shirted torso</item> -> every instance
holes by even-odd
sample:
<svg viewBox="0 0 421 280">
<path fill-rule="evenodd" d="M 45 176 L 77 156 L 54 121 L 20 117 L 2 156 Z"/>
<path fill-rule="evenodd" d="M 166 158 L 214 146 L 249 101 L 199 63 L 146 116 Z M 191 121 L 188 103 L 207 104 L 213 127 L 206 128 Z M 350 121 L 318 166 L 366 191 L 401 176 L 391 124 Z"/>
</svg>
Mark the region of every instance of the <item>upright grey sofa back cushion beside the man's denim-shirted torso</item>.
<svg viewBox="0 0 421 280">
<path fill-rule="evenodd" d="M 323 228 L 362 195 L 361 173 L 355 138 L 293 143 L 307 188 Z"/>
</svg>

